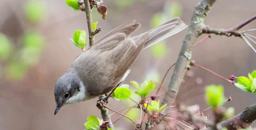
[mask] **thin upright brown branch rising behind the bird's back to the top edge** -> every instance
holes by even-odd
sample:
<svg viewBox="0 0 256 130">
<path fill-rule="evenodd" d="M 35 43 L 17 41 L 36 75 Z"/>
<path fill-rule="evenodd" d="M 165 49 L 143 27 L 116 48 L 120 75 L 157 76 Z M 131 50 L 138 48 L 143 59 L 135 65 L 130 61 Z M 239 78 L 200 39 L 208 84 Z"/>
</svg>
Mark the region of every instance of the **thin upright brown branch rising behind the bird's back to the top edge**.
<svg viewBox="0 0 256 130">
<path fill-rule="evenodd" d="M 86 19 L 87 19 L 87 26 L 88 26 L 88 32 L 89 32 L 89 44 L 92 46 L 95 42 L 93 30 L 92 30 L 92 14 L 91 14 L 91 7 L 89 0 L 84 0 L 85 4 L 85 13 L 86 13 Z"/>
</svg>

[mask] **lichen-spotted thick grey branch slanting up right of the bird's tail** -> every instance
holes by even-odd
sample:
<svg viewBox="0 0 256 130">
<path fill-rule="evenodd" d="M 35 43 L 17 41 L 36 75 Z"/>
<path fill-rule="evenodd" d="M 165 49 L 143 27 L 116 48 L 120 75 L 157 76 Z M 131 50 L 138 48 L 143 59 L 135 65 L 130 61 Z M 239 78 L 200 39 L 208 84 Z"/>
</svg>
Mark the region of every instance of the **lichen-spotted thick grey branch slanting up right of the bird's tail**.
<svg viewBox="0 0 256 130">
<path fill-rule="evenodd" d="M 193 16 L 191 18 L 191 25 L 183 41 L 175 69 L 168 86 L 168 91 L 165 94 L 165 98 L 162 101 L 162 104 L 167 103 L 169 97 L 172 97 L 171 103 L 174 103 L 177 92 L 180 88 L 180 84 L 189 65 L 189 59 L 191 58 L 185 55 L 185 53 L 191 54 L 196 39 L 202 34 L 201 27 L 204 26 L 203 21 L 208 15 L 210 8 L 215 1 L 216 0 L 203 0 L 196 5 Z"/>
</svg>

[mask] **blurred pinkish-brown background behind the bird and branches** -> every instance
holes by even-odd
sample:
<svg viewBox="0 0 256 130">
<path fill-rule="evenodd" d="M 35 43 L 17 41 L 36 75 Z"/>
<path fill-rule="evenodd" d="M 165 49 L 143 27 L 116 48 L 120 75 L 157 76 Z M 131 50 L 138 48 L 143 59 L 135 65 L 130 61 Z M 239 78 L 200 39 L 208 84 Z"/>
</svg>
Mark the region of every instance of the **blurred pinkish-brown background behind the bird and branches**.
<svg viewBox="0 0 256 130">
<path fill-rule="evenodd" d="M 96 8 L 92 10 L 93 21 L 98 21 L 98 27 L 102 28 L 96 40 L 134 19 L 142 24 L 134 35 L 177 16 L 190 24 L 194 6 L 200 1 L 104 0 L 103 5 L 108 7 L 106 20 L 102 19 Z M 212 28 L 229 29 L 255 15 L 255 4 L 256 0 L 217 1 L 205 23 Z M 0 129 L 82 130 L 89 115 L 100 118 L 95 106 L 97 99 L 66 105 L 56 116 L 53 114 L 56 106 L 55 83 L 82 52 L 70 38 L 76 29 L 87 32 L 85 13 L 71 10 L 65 0 L 1 0 L 0 17 Z M 242 30 L 255 27 L 256 21 Z M 124 84 L 129 84 L 131 80 L 138 83 L 155 80 L 160 83 L 168 68 L 176 62 L 186 31 L 144 50 L 133 64 Z M 256 32 L 251 34 L 256 35 Z M 197 64 L 227 78 L 229 75 L 247 76 L 256 69 L 256 54 L 240 38 L 211 37 L 193 48 L 192 59 Z M 168 86 L 171 74 L 172 70 L 164 81 L 164 88 Z M 204 87 L 210 84 L 224 86 L 225 96 L 232 97 L 232 101 L 225 106 L 234 107 L 235 113 L 255 103 L 255 95 L 243 92 L 198 68 L 188 71 L 184 81 L 178 100 L 186 105 L 199 104 L 201 111 L 209 107 L 203 92 Z M 164 94 L 164 91 L 160 94 Z M 134 94 L 132 98 L 140 100 Z M 109 100 L 109 107 L 115 110 L 133 105 L 134 102 L 130 100 Z M 140 110 L 135 108 L 127 116 L 136 120 L 139 113 Z M 207 111 L 207 114 L 210 113 Z M 112 120 L 117 117 L 113 115 Z M 116 122 L 115 126 L 117 130 L 135 128 L 132 122 L 124 118 Z"/>
</svg>

